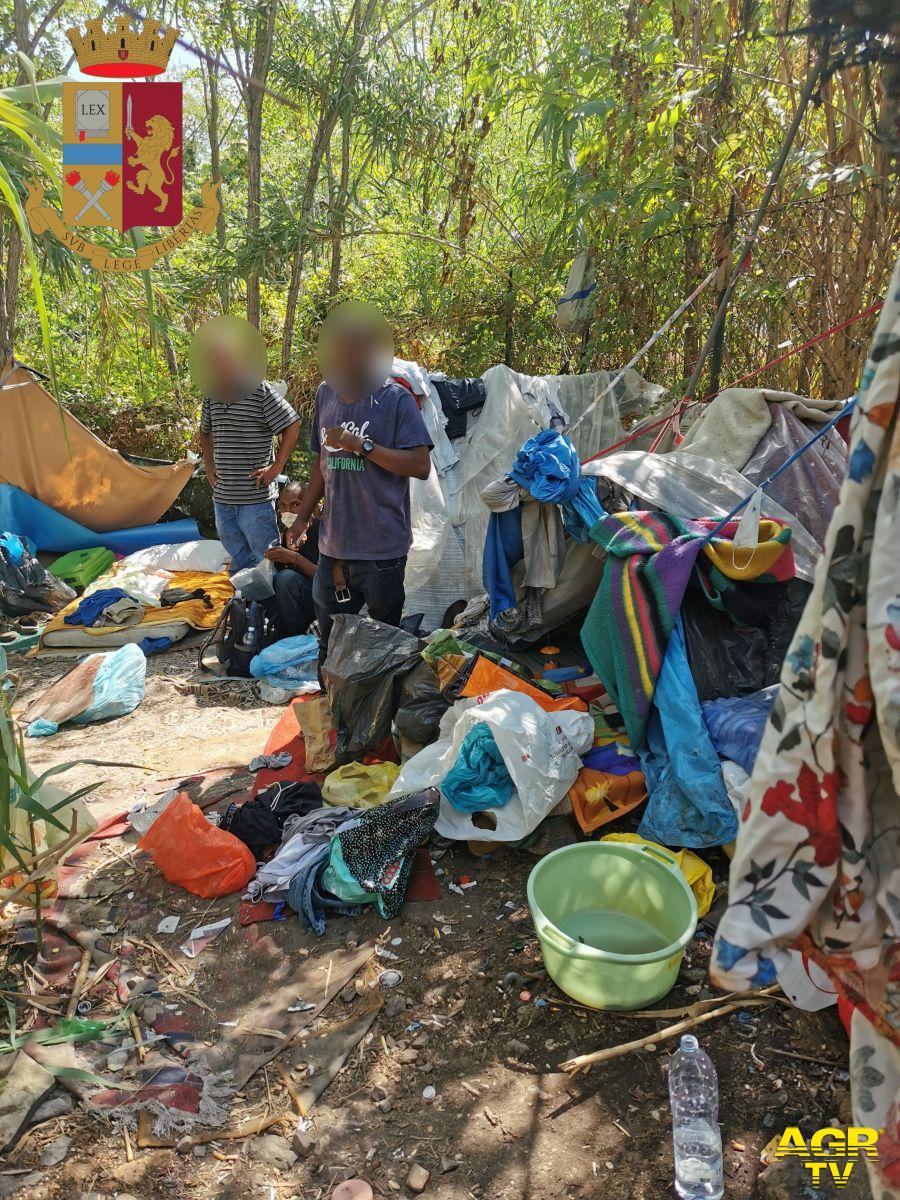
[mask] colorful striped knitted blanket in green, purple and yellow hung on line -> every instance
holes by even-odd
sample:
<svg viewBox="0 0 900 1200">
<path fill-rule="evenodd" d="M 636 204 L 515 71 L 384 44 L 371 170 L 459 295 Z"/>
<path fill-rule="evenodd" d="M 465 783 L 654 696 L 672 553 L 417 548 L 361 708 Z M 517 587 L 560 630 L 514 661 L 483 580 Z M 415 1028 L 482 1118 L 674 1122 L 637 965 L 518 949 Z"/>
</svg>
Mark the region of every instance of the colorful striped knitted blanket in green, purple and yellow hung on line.
<svg viewBox="0 0 900 1200">
<path fill-rule="evenodd" d="M 607 558 L 581 641 L 634 749 L 644 743 L 662 659 L 695 568 L 713 602 L 742 582 L 794 575 L 787 526 L 761 520 L 758 545 L 750 547 L 731 540 L 736 521 L 706 541 L 714 527 L 714 521 L 679 521 L 664 512 L 616 512 L 590 530 Z"/>
</svg>

